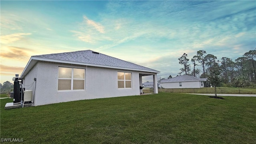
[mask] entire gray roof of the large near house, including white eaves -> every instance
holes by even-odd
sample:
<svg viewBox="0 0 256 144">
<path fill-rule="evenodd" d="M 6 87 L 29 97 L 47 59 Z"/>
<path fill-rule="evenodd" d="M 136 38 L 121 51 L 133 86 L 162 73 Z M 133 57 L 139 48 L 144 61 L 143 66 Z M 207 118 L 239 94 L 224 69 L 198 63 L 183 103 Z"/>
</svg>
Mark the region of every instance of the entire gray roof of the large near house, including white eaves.
<svg viewBox="0 0 256 144">
<path fill-rule="evenodd" d="M 107 56 L 105 54 L 94 52 L 92 50 L 82 50 L 76 52 L 63 52 L 57 54 L 31 56 L 28 64 L 26 65 L 24 71 L 21 74 L 21 77 L 25 76 L 38 61 L 160 73 L 157 70 L 120 60 L 118 58 Z"/>
</svg>

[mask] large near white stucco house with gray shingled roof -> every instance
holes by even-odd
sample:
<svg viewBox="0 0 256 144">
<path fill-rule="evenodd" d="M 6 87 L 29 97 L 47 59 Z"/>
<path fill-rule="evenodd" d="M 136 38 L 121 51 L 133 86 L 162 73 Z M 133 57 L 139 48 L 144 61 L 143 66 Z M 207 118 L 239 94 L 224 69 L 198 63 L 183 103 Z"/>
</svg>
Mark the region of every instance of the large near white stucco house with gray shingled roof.
<svg viewBox="0 0 256 144">
<path fill-rule="evenodd" d="M 33 91 L 35 106 L 118 96 L 140 95 L 142 76 L 157 70 L 92 50 L 32 56 L 20 78 Z M 154 89 L 158 93 L 158 89 Z"/>
</svg>

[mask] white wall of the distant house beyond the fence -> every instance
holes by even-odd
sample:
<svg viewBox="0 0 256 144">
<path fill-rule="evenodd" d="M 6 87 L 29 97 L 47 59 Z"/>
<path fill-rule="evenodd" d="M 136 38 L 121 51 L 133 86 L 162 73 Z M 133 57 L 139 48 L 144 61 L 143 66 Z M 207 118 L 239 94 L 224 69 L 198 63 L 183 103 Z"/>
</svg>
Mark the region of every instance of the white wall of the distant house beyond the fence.
<svg viewBox="0 0 256 144">
<path fill-rule="evenodd" d="M 163 88 L 202 88 L 201 81 L 190 81 L 190 82 L 181 82 L 182 86 L 180 86 L 180 82 L 166 82 L 162 83 Z"/>
</svg>

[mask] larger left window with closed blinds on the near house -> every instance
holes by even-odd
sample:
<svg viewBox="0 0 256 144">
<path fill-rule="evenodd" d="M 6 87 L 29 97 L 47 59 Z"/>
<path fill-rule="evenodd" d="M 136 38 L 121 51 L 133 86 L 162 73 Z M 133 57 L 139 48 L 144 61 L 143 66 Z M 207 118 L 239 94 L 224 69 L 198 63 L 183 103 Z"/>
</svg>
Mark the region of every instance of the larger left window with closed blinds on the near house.
<svg viewBox="0 0 256 144">
<path fill-rule="evenodd" d="M 59 67 L 58 90 L 84 90 L 85 70 Z"/>
</svg>

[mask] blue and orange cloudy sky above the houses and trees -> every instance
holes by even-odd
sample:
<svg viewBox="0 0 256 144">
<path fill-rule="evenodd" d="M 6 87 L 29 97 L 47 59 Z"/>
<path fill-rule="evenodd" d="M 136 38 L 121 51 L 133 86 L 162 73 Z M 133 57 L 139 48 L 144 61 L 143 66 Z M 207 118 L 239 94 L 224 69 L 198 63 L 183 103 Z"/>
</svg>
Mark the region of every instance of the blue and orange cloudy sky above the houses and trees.
<svg viewBox="0 0 256 144">
<path fill-rule="evenodd" d="M 0 14 L 1 83 L 41 54 L 94 50 L 158 70 L 159 79 L 180 72 L 183 53 L 235 60 L 256 48 L 255 0 L 1 0 Z"/>
</svg>

